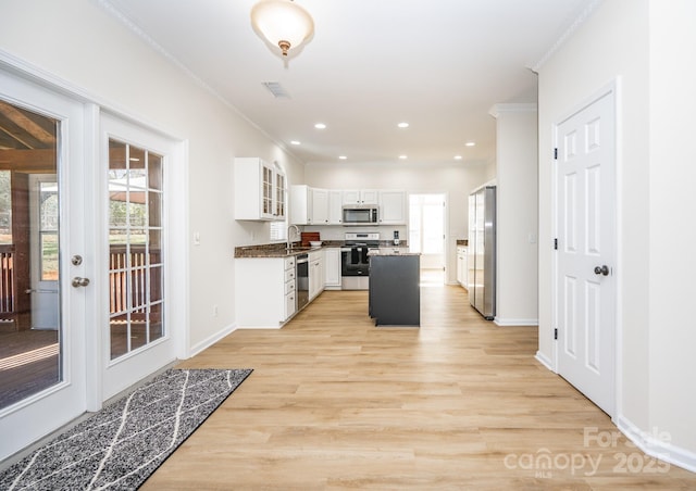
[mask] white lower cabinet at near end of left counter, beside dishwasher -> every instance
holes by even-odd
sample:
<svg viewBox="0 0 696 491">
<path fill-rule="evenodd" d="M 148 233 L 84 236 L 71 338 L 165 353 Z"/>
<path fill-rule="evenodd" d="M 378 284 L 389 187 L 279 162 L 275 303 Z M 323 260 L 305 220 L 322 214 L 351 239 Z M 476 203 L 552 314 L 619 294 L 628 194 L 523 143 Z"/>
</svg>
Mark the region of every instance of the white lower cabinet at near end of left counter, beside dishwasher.
<svg viewBox="0 0 696 491">
<path fill-rule="evenodd" d="M 295 256 L 235 260 L 237 327 L 278 328 L 295 314 Z"/>
</svg>

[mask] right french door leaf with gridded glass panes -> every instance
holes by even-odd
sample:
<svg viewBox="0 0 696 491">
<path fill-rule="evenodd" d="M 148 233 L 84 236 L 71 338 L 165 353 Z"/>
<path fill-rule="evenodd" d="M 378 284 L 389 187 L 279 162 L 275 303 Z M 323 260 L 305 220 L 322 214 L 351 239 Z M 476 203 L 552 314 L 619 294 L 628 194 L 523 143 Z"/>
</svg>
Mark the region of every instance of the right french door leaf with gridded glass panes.
<svg viewBox="0 0 696 491">
<path fill-rule="evenodd" d="M 176 358 L 169 281 L 170 167 L 175 143 L 138 125 L 101 115 L 101 171 L 105 226 L 100 262 L 108 270 L 102 295 L 102 400 Z"/>
</svg>

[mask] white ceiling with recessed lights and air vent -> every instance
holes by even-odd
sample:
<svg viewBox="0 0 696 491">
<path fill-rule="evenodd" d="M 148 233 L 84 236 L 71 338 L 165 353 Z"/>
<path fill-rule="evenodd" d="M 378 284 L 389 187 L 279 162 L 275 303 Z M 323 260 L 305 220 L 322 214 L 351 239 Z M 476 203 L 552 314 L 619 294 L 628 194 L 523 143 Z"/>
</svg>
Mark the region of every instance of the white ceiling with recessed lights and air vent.
<svg viewBox="0 0 696 491">
<path fill-rule="evenodd" d="M 251 27 L 256 1 L 102 3 L 301 161 L 336 165 L 402 154 L 418 164 L 492 161 L 490 108 L 536 101 L 530 67 L 594 3 L 296 0 L 315 32 L 283 60 Z M 279 83 L 289 98 L 274 98 L 264 81 Z"/>
</svg>

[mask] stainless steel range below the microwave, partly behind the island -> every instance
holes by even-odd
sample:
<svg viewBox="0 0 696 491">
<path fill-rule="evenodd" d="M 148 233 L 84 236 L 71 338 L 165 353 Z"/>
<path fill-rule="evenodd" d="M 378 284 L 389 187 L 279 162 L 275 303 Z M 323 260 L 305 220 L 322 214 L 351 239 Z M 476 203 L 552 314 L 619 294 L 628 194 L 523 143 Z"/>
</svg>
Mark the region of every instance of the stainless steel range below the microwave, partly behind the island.
<svg viewBox="0 0 696 491">
<path fill-rule="evenodd" d="M 371 249 L 380 248 L 378 232 L 347 232 L 340 248 L 340 287 L 344 290 L 370 288 Z"/>
</svg>

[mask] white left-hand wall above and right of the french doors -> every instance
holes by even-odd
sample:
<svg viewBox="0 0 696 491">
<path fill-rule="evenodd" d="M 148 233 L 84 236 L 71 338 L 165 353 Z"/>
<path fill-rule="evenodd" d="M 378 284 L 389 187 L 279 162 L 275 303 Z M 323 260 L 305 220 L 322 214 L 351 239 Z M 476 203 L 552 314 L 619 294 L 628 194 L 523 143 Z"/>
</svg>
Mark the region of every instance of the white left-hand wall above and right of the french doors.
<svg viewBox="0 0 696 491">
<path fill-rule="evenodd" d="M 268 224 L 233 219 L 235 156 L 277 160 L 290 181 L 303 166 L 233 109 L 89 0 L 2 0 L 0 50 L 59 77 L 116 111 L 188 141 L 189 347 L 235 323 L 234 248 L 266 242 Z M 124 74 L 132 74 L 125 76 Z M 184 217 L 183 217 L 184 218 Z M 178 267 L 186 267 L 179 265 Z M 212 305 L 219 316 L 212 316 Z"/>
</svg>

